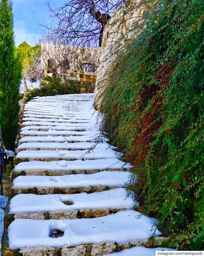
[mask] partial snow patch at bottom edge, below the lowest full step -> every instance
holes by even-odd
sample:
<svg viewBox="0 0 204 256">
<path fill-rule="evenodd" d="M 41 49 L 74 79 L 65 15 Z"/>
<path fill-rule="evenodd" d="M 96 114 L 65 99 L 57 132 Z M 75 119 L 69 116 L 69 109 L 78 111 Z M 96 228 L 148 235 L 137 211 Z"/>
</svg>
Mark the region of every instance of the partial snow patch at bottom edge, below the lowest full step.
<svg viewBox="0 0 204 256">
<path fill-rule="evenodd" d="M 106 254 L 106 256 L 155 256 L 156 251 L 174 251 L 174 249 L 169 248 L 145 248 L 143 246 L 135 246 L 130 249 L 122 250 L 120 252 L 114 252 L 111 254 Z"/>
</svg>

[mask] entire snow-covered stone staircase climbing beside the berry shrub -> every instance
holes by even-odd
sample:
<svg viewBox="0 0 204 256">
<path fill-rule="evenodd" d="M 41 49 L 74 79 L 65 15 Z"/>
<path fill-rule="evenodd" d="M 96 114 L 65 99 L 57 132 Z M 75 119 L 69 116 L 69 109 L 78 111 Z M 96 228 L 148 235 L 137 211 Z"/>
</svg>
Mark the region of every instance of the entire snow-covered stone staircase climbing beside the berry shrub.
<svg viewBox="0 0 204 256">
<path fill-rule="evenodd" d="M 120 256 L 167 242 L 153 218 L 131 209 L 131 165 L 100 135 L 93 97 L 37 97 L 25 105 L 3 256 Z"/>
</svg>

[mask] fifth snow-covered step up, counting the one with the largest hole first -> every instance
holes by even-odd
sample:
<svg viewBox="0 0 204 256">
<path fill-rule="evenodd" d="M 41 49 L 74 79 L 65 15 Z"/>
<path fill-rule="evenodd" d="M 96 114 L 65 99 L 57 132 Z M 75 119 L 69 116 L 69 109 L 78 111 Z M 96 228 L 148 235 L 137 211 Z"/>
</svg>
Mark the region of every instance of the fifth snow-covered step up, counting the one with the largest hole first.
<svg viewBox="0 0 204 256">
<path fill-rule="evenodd" d="M 76 160 L 76 159 L 100 159 L 100 158 L 120 158 L 123 154 L 116 152 L 111 148 L 96 147 L 91 150 L 23 150 L 20 151 L 16 158 L 19 159 L 46 159 L 52 161 L 53 159 L 62 160 Z"/>
</svg>

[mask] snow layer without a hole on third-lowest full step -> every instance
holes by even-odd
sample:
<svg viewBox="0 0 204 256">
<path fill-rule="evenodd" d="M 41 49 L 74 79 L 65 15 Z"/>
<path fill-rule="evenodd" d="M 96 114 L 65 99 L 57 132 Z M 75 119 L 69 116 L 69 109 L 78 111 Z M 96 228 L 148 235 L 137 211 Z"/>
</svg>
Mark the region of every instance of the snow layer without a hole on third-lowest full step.
<svg viewBox="0 0 204 256">
<path fill-rule="evenodd" d="M 77 188 L 90 186 L 125 186 L 130 172 L 103 171 L 93 174 L 63 176 L 18 176 L 14 188 Z"/>
</svg>

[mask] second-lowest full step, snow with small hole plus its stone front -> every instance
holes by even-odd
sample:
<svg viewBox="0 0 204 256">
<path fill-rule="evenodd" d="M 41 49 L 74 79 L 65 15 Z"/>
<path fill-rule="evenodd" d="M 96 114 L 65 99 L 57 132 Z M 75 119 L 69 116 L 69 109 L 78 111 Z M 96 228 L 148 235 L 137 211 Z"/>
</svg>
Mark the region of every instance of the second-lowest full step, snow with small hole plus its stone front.
<svg viewBox="0 0 204 256">
<path fill-rule="evenodd" d="M 90 194 L 18 194 L 10 200 L 9 214 L 30 219 L 96 218 L 130 209 L 133 204 L 124 188 Z"/>
</svg>

